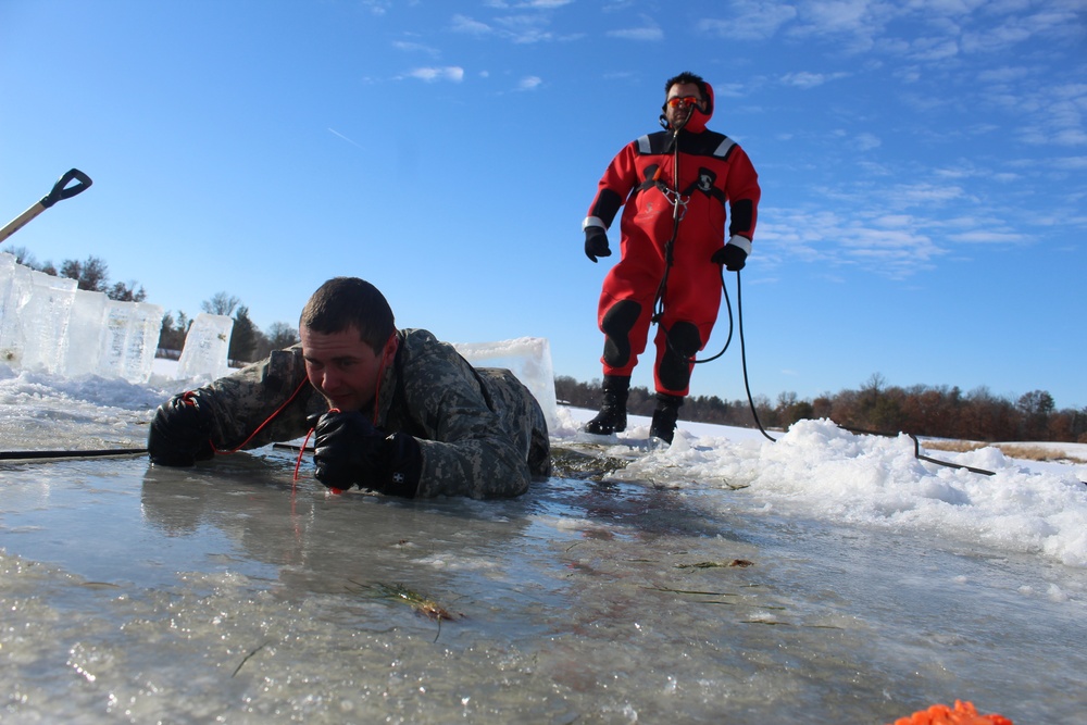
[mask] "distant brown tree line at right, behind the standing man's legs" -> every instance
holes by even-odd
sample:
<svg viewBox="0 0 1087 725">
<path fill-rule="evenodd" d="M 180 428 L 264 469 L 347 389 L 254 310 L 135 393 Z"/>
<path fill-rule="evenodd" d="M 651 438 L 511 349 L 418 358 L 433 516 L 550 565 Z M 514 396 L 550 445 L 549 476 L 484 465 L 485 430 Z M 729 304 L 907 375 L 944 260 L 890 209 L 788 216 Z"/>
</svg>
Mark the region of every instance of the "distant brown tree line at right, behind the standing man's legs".
<svg viewBox="0 0 1087 725">
<path fill-rule="evenodd" d="M 580 383 L 573 377 L 555 378 L 555 396 L 578 408 L 600 404 L 600 380 Z M 828 418 L 853 429 L 875 433 L 912 433 L 917 436 L 961 440 L 1039 440 L 1087 442 L 1087 408 L 1057 410 L 1045 390 L 1021 396 L 1016 401 L 999 398 L 988 388 L 963 393 L 958 387 L 915 385 L 888 386 L 879 374 L 859 390 L 824 393 L 801 400 L 784 392 L 772 404 L 755 396 L 754 411 L 764 428 L 787 429 L 797 421 Z M 655 397 L 648 388 L 632 387 L 627 411 L 652 415 Z M 751 404 L 746 399 L 722 400 L 717 396 L 690 396 L 679 410 L 684 421 L 755 427 Z"/>
</svg>

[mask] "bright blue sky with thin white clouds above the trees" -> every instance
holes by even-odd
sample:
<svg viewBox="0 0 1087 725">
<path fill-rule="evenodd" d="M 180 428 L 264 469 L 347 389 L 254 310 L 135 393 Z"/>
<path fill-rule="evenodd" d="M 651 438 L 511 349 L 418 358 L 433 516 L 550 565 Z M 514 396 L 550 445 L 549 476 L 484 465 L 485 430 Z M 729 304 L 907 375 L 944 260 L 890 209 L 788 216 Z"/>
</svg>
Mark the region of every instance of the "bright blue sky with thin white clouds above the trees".
<svg viewBox="0 0 1087 725">
<path fill-rule="evenodd" d="M 614 258 L 580 222 L 689 70 L 763 188 L 753 393 L 878 374 L 1082 408 L 1085 26 L 1082 0 L 5 0 L 0 223 L 95 184 L 0 251 L 100 257 L 190 316 L 225 291 L 262 328 L 357 275 L 401 326 L 546 337 L 599 378 Z M 723 307 L 703 357 L 726 335 Z M 745 396 L 735 336 L 691 392 Z"/>
</svg>

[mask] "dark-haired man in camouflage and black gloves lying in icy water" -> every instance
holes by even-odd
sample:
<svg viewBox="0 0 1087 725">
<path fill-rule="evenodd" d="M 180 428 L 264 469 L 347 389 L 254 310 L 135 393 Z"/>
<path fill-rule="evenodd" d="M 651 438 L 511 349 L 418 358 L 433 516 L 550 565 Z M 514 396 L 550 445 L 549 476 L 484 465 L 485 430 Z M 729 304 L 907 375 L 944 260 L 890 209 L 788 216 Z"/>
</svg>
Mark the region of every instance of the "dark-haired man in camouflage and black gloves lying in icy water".
<svg viewBox="0 0 1087 725">
<path fill-rule="evenodd" d="M 312 428 L 314 475 L 335 489 L 483 499 L 518 496 L 550 474 L 547 422 L 528 389 L 510 371 L 474 368 L 427 330 L 397 330 L 370 283 L 322 285 L 299 336 L 160 405 L 151 462 L 190 466 Z"/>
</svg>

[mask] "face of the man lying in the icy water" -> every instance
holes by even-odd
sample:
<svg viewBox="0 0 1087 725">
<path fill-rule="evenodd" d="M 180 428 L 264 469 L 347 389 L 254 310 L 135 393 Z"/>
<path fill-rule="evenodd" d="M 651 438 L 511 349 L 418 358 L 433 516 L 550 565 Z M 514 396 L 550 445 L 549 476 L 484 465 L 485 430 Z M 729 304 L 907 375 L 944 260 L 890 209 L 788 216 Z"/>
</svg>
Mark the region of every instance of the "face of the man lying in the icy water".
<svg viewBox="0 0 1087 725">
<path fill-rule="evenodd" d="M 298 332 L 305 375 L 328 401 L 328 407 L 341 411 L 367 408 L 374 400 L 384 364 L 396 353 L 396 337 L 377 353 L 359 338 L 354 326 L 327 335 L 305 326 Z"/>
</svg>

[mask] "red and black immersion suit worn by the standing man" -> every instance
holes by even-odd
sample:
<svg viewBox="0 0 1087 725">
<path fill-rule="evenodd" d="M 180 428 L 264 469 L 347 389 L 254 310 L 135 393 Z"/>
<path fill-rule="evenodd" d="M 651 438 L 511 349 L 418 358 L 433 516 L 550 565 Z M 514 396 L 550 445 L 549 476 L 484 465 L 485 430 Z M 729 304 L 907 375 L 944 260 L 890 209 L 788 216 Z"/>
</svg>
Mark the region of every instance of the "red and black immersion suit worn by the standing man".
<svg viewBox="0 0 1087 725">
<path fill-rule="evenodd" d="M 657 391 L 672 396 L 688 393 L 691 360 L 705 347 L 717 318 L 721 265 L 710 258 L 725 243 L 726 204 L 729 238 L 750 251 L 761 196 L 759 176 L 744 149 L 705 128 L 713 114 L 713 90 L 707 87 L 707 113 L 695 108 L 677 137 L 678 179 L 674 132 L 642 136 L 608 165 L 583 224 L 608 228 L 625 204 L 621 259 L 604 278 L 597 321 L 604 334 L 604 375 L 626 377 L 646 349 L 665 274 L 665 246 L 675 233 L 653 368 Z M 686 201 L 678 228 L 673 220 L 676 189 Z"/>
</svg>

